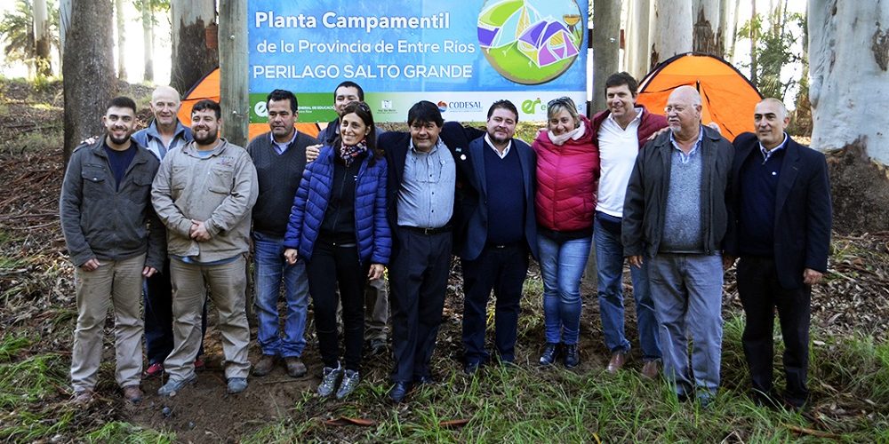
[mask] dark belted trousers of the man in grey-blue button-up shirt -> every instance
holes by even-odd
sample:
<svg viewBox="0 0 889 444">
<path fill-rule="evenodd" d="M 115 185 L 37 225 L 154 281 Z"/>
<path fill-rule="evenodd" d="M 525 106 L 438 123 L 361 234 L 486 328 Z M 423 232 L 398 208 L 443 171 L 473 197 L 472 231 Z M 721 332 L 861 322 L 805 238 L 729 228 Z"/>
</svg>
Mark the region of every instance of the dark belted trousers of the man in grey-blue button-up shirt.
<svg viewBox="0 0 889 444">
<path fill-rule="evenodd" d="M 398 231 L 397 252 L 389 264 L 395 382 L 429 376 L 445 307 L 451 239 L 450 233 Z"/>
</svg>

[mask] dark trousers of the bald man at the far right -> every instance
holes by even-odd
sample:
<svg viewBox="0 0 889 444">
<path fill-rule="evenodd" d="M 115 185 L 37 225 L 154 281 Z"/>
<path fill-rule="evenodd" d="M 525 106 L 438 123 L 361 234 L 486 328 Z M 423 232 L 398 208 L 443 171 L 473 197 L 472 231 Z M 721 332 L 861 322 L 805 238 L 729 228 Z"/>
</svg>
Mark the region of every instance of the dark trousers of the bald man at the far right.
<svg viewBox="0 0 889 444">
<path fill-rule="evenodd" d="M 800 270 L 802 274 L 802 270 Z M 738 293 L 747 316 L 741 341 L 757 396 L 773 392 L 773 325 L 777 308 L 784 338 L 785 398 L 799 407 L 808 400 L 809 321 L 812 287 L 784 289 L 773 258 L 742 257 L 738 263 Z"/>
</svg>

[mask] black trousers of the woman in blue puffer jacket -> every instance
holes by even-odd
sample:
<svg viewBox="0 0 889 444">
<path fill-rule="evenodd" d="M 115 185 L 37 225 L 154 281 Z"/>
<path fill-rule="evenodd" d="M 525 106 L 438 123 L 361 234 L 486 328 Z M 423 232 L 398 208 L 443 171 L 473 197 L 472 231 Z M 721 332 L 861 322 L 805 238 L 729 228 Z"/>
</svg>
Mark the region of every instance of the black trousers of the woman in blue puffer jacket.
<svg viewBox="0 0 889 444">
<path fill-rule="evenodd" d="M 324 367 L 336 368 L 340 361 L 340 337 L 336 330 L 337 284 L 342 298 L 345 367 L 358 370 L 364 345 L 364 285 L 370 264 L 358 261 L 358 248 L 334 245 L 318 238 L 312 258 L 306 262 L 308 293 L 315 309 L 318 349 Z"/>
</svg>

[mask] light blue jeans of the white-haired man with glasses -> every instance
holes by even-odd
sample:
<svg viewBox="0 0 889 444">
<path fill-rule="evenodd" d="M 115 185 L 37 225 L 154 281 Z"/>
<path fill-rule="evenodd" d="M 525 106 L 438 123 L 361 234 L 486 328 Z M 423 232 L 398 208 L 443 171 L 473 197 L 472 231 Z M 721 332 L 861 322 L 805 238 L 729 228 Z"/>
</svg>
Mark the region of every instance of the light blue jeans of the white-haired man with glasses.
<svg viewBox="0 0 889 444">
<path fill-rule="evenodd" d="M 722 258 L 718 254 L 658 254 L 649 260 L 654 306 L 661 321 L 664 376 L 676 385 L 679 395 L 691 395 L 696 389 L 698 398 L 715 396 L 723 335 Z"/>
</svg>

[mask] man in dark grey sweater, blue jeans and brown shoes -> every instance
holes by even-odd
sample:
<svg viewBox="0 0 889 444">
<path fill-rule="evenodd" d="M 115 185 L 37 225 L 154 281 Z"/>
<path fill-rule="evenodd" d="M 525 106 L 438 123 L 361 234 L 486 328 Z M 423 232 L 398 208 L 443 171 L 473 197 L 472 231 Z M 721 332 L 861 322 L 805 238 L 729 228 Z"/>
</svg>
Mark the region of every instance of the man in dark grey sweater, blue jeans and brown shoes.
<svg viewBox="0 0 889 444">
<path fill-rule="evenodd" d="M 270 131 L 252 139 L 247 152 L 256 166 L 260 195 L 253 206 L 253 282 L 256 285 L 257 342 L 262 357 L 252 373 L 264 377 L 271 372 L 278 357 L 290 377 L 302 377 L 306 366 L 300 361 L 306 346 L 303 333 L 308 313 L 308 278 L 306 265 L 290 265 L 284 260 L 284 232 L 293 196 L 306 168 L 306 147 L 318 140 L 296 131 L 299 115 L 296 96 L 291 91 L 275 90 L 266 98 Z M 284 335 L 278 329 L 278 293 L 284 281 L 287 314 Z"/>
</svg>

